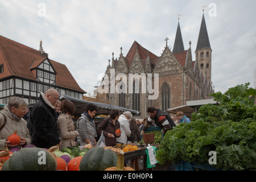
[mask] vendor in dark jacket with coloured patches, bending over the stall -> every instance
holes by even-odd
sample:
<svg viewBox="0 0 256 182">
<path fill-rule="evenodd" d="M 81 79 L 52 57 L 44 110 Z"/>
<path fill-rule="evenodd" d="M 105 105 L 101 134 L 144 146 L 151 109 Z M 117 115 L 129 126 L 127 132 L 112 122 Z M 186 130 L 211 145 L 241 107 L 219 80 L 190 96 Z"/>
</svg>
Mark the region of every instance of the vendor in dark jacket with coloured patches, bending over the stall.
<svg viewBox="0 0 256 182">
<path fill-rule="evenodd" d="M 147 113 L 150 115 L 150 117 L 147 118 L 141 134 L 146 131 L 147 127 L 150 126 L 153 121 L 155 121 L 156 126 L 162 128 L 162 134 L 166 134 L 166 131 L 172 130 L 172 127 L 176 126 L 170 115 L 160 109 L 148 107 Z"/>
</svg>

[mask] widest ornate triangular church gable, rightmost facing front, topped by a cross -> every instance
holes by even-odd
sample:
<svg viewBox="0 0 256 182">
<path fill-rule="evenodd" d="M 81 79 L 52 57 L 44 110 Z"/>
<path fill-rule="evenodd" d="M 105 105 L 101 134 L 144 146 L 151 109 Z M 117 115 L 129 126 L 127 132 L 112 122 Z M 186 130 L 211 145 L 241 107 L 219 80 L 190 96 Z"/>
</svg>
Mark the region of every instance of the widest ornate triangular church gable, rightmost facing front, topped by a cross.
<svg viewBox="0 0 256 182">
<path fill-rule="evenodd" d="M 171 50 L 166 47 L 158 63 L 156 63 L 153 73 L 159 73 L 159 76 L 165 76 L 181 72 L 183 72 L 181 64 Z"/>
</svg>

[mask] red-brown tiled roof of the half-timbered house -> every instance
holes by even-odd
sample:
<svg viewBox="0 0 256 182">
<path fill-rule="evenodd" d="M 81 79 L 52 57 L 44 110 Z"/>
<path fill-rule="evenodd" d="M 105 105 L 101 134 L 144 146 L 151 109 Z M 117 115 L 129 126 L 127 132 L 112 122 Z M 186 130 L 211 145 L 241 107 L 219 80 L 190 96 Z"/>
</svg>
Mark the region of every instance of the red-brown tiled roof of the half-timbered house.
<svg viewBox="0 0 256 182">
<path fill-rule="evenodd" d="M 46 55 L 42 55 L 40 51 L 0 35 L 0 64 L 4 64 L 4 73 L 1 73 L 0 78 L 18 76 L 38 81 L 31 69 L 36 68 L 45 59 Z M 64 64 L 50 59 L 49 61 L 57 73 L 56 86 L 86 93 L 80 88 Z"/>
</svg>

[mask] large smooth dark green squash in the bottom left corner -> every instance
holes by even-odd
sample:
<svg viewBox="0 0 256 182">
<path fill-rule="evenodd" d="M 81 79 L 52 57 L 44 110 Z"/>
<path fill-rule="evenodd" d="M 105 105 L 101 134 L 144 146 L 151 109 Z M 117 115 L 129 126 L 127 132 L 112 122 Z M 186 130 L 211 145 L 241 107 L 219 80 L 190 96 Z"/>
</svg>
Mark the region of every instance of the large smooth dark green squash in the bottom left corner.
<svg viewBox="0 0 256 182">
<path fill-rule="evenodd" d="M 3 164 L 1 171 L 55 171 L 55 156 L 44 148 L 22 148 Z"/>
</svg>

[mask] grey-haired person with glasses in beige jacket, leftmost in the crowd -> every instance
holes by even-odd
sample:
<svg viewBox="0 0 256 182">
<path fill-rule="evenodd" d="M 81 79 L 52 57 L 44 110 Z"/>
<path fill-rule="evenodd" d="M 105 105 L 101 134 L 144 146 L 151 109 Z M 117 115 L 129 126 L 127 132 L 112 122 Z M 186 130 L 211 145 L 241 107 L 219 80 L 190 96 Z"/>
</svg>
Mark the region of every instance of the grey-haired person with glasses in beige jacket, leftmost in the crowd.
<svg viewBox="0 0 256 182">
<path fill-rule="evenodd" d="M 27 122 L 22 118 L 27 113 L 27 103 L 20 97 L 11 97 L 8 104 L 3 107 L 0 114 L 0 148 L 20 148 L 30 144 L 30 131 Z M 7 138 L 16 131 L 20 137 L 19 144 L 10 144 Z"/>
</svg>

